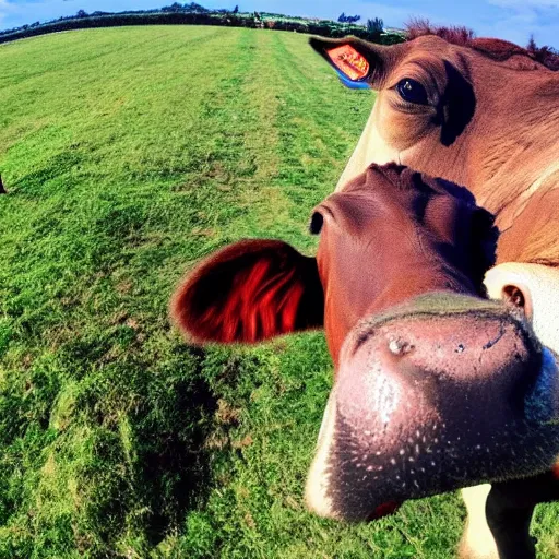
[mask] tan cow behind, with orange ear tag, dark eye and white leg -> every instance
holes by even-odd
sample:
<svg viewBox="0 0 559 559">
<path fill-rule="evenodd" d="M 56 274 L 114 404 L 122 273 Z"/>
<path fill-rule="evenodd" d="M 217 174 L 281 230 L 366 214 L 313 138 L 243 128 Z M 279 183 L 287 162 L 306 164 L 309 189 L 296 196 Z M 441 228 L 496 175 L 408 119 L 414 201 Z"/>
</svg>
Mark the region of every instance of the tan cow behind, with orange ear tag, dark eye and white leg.
<svg viewBox="0 0 559 559">
<path fill-rule="evenodd" d="M 492 297 L 524 306 L 540 341 L 559 353 L 559 58 L 547 62 L 498 39 L 471 39 L 448 29 L 382 47 L 356 38 L 311 39 L 346 80 L 378 91 L 373 110 L 336 190 L 371 163 L 396 162 L 467 185 L 496 215 L 502 234 L 487 277 Z M 551 477 L 550 475 L 548 477 Z M 536 502 L 559 493 L 526 481 L 519 496 L 524 528 Z M 468 511 L 483 516 L 489 488 L 469 491 Z M 532 495 L 530 499 L 526 495 Z M 468 497 L 466 491 L 465 497 Z M 467 500 L 467 499 L 466 499 Z M 488 507 L 514 514 L 513 496 L 495 490 Z M 522 518 L 522 521 L 519 519 Z M 527 520 L 526 520 L 527 519 Z M 487 525 L 472 519 L 465 557 L 493 558 Z M 477 539 L 477 540 L 476 540 Z M 522 556 L 524 557 L 524 556 Z"/>
</svg>

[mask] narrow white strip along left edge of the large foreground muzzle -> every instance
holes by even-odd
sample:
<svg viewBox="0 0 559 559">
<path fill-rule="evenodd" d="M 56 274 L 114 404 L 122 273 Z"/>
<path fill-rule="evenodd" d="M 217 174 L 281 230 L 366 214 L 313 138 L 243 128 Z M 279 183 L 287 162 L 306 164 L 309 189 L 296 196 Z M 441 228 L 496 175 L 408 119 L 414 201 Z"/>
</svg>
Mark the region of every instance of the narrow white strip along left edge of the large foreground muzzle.
<svg viewBox="0 0 559 559">
<path fill-rule="evenodd" d="M 305 501 L 307 507 L 319 516 L 335 518 L 332 508 L 332 499 L 328 497 L 330 472 L 328 460 L 334 441 L 334 428 L 336 419 L 336 404 L 334 390 L 330 394 L 326 409 L 320 426 L 317 442 L 317 452 L 305 488 Z"/>
</svg>

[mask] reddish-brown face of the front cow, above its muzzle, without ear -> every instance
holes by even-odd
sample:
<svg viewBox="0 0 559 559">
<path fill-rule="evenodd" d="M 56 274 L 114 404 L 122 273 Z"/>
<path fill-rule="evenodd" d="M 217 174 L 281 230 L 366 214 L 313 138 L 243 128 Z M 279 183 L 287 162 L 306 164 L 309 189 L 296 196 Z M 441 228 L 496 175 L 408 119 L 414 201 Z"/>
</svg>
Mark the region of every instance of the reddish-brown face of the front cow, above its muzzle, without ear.
<svg viewBox="0 0 559 559">
<path fill-rule="evenodd" d="M 411 169 L 371 166 L 312 214 L 334 362 L 350 329 L 417 295 L 485 294 L 498 231 L 464 188 Z"/>
</svg>

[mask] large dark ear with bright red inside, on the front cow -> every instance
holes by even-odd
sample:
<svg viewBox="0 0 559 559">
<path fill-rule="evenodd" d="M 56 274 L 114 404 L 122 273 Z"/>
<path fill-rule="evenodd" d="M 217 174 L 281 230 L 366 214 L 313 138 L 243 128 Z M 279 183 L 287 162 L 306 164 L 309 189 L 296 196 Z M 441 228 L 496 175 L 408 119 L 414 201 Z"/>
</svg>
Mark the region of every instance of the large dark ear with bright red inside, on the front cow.
<svg viewBox="0 0 559 559">
<path fill-rule="evenodd" d="M 322 326 L 317 260 L 278 240 L 236 242 L 187 276 L 170 312 L 194 343 L 255 343 Z"/>
</svg>

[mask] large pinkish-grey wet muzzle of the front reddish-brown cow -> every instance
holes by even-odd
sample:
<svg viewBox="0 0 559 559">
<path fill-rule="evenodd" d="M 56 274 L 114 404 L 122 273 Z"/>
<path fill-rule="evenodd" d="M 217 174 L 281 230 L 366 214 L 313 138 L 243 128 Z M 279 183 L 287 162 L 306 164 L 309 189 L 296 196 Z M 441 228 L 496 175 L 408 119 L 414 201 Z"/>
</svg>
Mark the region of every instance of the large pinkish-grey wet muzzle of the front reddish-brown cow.
<svg viewBox="0 0 559 559">
<path fill-rule="evenodd" d="M 344 343 L 307 484 L 319 514 L 533 475 L 559 454 L 554 356 L 499 302 L 436 294 Z"/>
</svg>

